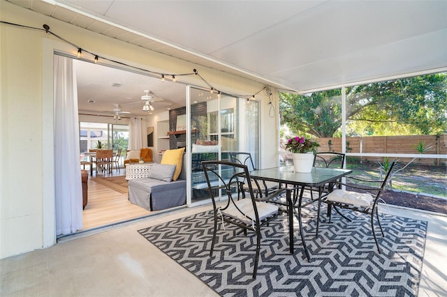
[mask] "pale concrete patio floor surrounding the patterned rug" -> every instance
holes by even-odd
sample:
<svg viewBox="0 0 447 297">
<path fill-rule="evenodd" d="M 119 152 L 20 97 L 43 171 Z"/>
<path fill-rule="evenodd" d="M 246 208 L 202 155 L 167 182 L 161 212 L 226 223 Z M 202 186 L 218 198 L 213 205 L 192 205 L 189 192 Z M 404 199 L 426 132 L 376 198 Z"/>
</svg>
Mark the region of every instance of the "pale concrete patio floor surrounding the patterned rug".
<svg viewBox="0 0 447 297">
<path fill-rule="evenodd" d="M 184 208 L 2 259 L 1 296 L 217 296 L 137 232 L 210 208 Z M 381 211 L 427 220 L 418 296 L 447 296 L 447 216 L 395 206 Z"/>
</svg>

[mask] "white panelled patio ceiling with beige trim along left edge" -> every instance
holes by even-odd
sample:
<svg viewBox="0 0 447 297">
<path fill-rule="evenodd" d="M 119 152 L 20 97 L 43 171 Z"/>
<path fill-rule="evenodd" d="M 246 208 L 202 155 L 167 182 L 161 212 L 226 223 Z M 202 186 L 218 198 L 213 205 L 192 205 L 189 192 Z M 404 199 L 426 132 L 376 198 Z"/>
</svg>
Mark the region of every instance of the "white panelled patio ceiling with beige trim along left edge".
<svg viewBox="0 0 447 297">
<path fill-rule="evenodd" d="M 10 2 L 300 92 L 447 68 L 447 1 Z"/>
</svg>

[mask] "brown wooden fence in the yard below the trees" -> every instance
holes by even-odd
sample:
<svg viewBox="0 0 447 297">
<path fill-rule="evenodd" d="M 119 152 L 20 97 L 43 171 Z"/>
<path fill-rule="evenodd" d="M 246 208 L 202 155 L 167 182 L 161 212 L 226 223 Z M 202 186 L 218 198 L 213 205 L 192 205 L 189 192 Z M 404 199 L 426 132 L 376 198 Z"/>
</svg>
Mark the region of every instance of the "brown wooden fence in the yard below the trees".
<svg viewBox="0 0 447 297">
<path fill-rule="evenodd" d="M 318 151 L 342 151 L 342 138 L 325 137 L 317 139 Z M 408 136 L 365 136 L 346 137 L 346 153 L 402 153 L 418 154 L 418 142 L 431 146 L 426 154 L 447 154 L 447 135 L 408 135 Z M 360 157 L 362 160 L 382 161 L 381 157 Z M 399 158 L 409 162 L 412 158 Z M 418 158 L 414 163 L 422 165 L 446 166 L 446 159 Z"/>
</svg>

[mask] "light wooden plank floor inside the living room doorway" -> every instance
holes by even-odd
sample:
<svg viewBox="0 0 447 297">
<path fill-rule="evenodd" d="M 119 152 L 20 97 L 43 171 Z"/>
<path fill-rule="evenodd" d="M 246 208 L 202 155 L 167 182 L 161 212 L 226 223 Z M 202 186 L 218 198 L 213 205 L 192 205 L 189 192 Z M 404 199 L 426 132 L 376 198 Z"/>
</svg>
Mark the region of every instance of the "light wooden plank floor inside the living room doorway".
<svg viewBox="0 0 447 297">
<path fill-rule="evenodd" d="M 120 169 L 120 171 L 114 170 L 112 175 L 105 174 L 105 177 L 126 175 L 125 169 Z M 88 203 L 83 211 L 83 230 L 140 218 L 150 213 L 145 208 L 131 204 L 127 193 L 121 194 L 105 185 L 95 183 L 91 180 L 92 178 L 96 178 L 96 174 L 93 173 L 93 176 L 90 176 L 89 172 Z"/>
</svg>

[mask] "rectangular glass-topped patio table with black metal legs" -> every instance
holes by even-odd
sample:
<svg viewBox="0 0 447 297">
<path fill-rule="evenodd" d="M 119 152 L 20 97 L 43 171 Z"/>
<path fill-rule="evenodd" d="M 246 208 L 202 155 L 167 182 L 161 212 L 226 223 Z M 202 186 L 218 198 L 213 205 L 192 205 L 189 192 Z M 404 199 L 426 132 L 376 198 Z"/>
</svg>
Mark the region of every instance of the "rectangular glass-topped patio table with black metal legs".
<svg viewBox="0 0 447 297">
<path fill-rule="evenodd" d="M 318 230 L 318 222 L 319 222 L 319 213 L 320 213 L 320 204 L 322 199 L 323 190 L 325 185 L 328 183 L 332 183 L 337 181 L 339 178 L 351 174 L 351 169 L 335 169 L 335 168 L 326 168 L 326 167 L 313 167 L 312 172 L 310 173 L 299 173 L 295 172 L 293 166 L 283 166 L 283 167 L 274 167 L 268 169 L 258 169 L 250 172 L 251 178 L 258 178 L 264 181 L 273 181 L 275 183 L 293 185 L 295 187 L 301 188 L 300 197 L 298 199 L 298 222 L 300 224 L 300 236 L 303 248 L 305 250 L 305 254 L 307 260 L 310 261 L 309 252 L 307 251 L 307 246 L 305 243 L 304 234 L 302 231 L 302 221 L 301 221 L 301 207 L 302 207 L 302 192 L 304 188 L 317 188 L 318 189 L 318 199 L 314 201 L 318 201 L 318 217 L 317 217 L 317 230 Z M 330 189 L 330 187 L 328 187 Z M 291 245 L 291 251 L 293 251 L 293 216 L 295 211 L 295 203 L 297 201 L 297 197 L 295 199 L 290 199 L 287 197 L 286 204 L 283 204 L 288 207 L 288 222 L 289 222 L 289 240 Z M 313 202 L 313 201 L 312 201 Z"/>
</svg>

